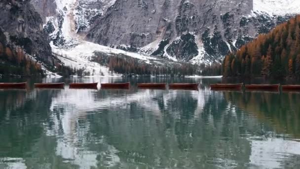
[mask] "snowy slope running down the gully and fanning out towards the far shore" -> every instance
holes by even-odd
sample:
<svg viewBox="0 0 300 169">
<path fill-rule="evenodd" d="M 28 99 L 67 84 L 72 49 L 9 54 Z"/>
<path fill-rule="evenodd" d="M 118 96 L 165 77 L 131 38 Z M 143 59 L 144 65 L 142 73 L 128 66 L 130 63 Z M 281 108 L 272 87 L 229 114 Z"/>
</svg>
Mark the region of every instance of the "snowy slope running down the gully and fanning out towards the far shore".
<svg viewBox="0 0 300 169">
<path fill-rule="evenodd" d="M 79 26 L 86 28 L 89 26 L 86 18 L 80 13 L 80 11 L 82 12 L 83 10 L 85 10 L 83 13 L 91 12 L 84 9 L 85 6 L 101 2 L 103 6 L 98 12 L 105 12 L 109 6 L 113 5 L 114 1 L 115 0 L 55 0 L 59 16 L 47 17 L 46 21 L 51 21 L 55 29 L 55 31 L 50 34 L 50 37 L 52 37 L 52 42 L 50 43 L 52 51 L 57 54 L 57 57 L 65 65 L 76 68 L 77 70 L 84 69 L 85 74 L 90 74 L 91 76 L 120 76 L 109 72 L 107 67 L 89 61 L 94 55 L 93 53 L 95 51 L 101 51 L 107 54 L 124 54 L 143 60 L 149 64 L 150 61 L 157 60 L 154 57 L 144 54 L 126 52 L 124 50 L 86 42 L 83 40 L 84 37 L 77 34 L 78 30 L 76 27 L 78 27 L 78 20 L 80 20 L 81 24 Z M 81 4 L 79 5 L 80 8 L 78 4 Z M 95 10 L 93 11 L 95 12 Z"/>
</svg>

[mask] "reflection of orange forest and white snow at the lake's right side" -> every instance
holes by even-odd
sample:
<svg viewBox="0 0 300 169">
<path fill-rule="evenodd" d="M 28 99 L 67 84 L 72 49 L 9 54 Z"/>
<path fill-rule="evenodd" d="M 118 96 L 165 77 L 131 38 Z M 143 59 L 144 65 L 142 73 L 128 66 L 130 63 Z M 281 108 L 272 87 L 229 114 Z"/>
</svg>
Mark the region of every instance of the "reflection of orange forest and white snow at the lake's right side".
<svg viewBox="0 0 300 169">
<path fill-rule="evenodd" d="M 300 157 L 300 107 L 297 105 L 300 94 L 224 92 L 224 95 L 228 102 L 233 102 L 260 122 L 255 126 L 248 124 L 251 127 L 240 131 L 251 141 L 250 161 L 253 165 L 268 168 L 299 167 L 300 164 L 296 162 Z"/>
</svg>

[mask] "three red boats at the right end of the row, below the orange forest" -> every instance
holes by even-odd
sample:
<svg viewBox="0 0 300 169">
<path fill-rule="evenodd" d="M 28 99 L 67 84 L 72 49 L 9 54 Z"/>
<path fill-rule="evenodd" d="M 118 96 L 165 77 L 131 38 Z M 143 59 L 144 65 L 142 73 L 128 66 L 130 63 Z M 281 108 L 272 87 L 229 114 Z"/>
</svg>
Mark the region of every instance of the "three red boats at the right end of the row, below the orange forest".
<svg viewBox="0 0 300 169">
<path fill-rule="evenodd" d="M 300 90 L 300 85 L 280 85 L 280 84 L 211 84 L 211 89 L 237 89 L 243 87 L 249 90 Z"/>
</svg>

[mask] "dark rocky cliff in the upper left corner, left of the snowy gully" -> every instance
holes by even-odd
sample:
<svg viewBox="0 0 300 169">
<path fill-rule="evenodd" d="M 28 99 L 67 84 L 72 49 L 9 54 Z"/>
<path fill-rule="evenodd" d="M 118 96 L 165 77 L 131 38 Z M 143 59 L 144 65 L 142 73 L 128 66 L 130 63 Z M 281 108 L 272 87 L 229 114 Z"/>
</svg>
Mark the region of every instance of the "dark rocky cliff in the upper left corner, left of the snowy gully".
<svg viewBox="0 0 300 169">
<path fill-rule="evenodd" d="M 54 64 L 48 37 L 43 32 L 43 22 L 29 0 L 0 1 L 0 30 L 5 35 L 5 45 L 18 45 L 49 65 Z"/>
</svg>

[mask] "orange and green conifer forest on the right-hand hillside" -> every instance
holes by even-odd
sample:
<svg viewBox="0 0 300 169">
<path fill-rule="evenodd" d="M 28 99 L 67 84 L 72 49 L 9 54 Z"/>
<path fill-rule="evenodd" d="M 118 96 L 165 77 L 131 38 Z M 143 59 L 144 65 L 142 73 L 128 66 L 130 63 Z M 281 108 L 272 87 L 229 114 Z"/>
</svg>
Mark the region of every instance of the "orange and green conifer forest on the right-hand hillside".
<svg viewBox="0 0 300 169">
<path fill-rule="evenodd" d="M 224 77 L 300 78 L 300 15 L 225 56 Z"/>
</svg>

